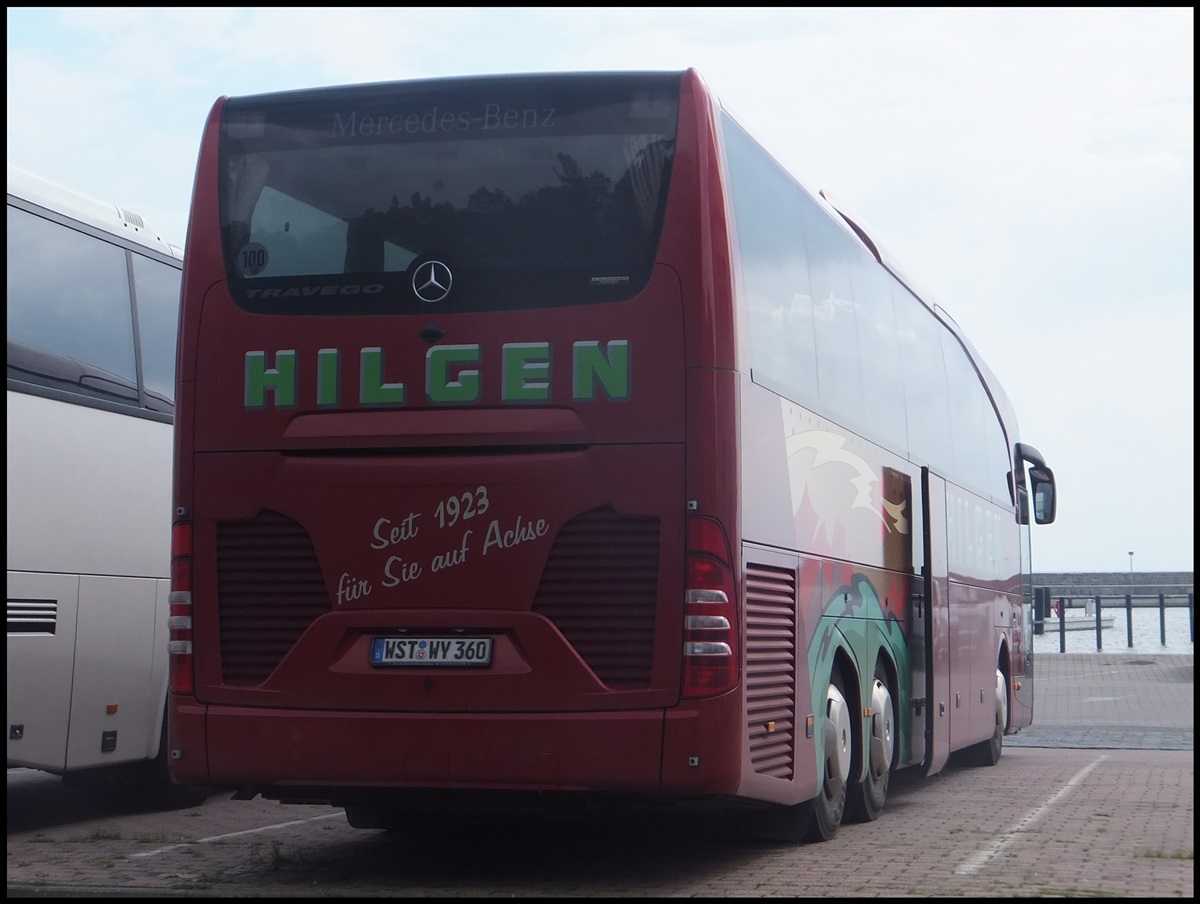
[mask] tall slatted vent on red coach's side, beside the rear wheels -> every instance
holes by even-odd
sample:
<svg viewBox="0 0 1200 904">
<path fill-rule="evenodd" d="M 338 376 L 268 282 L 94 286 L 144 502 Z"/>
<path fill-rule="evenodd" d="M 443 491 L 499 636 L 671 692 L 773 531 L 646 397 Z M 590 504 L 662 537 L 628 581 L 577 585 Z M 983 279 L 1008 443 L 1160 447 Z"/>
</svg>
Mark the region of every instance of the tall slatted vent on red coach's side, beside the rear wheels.
<svg viewBox="0 0 1200 904">
<path fill-rule="evenodd" d="M 746 730 L 755 772 L 796 762 L 796 573 L 746 565 Z"/>
</svg>

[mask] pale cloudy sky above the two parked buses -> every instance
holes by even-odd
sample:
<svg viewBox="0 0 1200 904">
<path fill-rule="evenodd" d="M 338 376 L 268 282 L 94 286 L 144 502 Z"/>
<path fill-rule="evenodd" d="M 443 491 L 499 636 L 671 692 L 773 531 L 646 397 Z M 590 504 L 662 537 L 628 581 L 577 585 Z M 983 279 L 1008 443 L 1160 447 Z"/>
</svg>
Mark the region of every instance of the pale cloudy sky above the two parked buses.
<svg viewBox="0 0 1200 904">
<path fill-rule="evenodd" d="M 1003 383 L 1058 485 L 1033 570 L 1190 571 L 1194 34 L 1194 7 L 10 6 L 8 162 L 182 245 L 222 95 L 694 67 Z"/>
</svg>

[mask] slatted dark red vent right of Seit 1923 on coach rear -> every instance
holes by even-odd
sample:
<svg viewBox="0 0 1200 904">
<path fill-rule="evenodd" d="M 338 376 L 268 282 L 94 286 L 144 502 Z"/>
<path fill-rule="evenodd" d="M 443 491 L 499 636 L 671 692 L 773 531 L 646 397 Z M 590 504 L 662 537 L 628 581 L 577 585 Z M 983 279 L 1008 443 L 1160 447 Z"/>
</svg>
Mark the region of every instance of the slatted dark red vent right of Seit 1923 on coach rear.
<svg viewBox="0 0 1200 904">
<path fill-rule="evenodd" d="M 659 520 L 594 509 L 558 532 L 533 611 L 610 688 L 648 688 L 658 587 Z"/>
</svg>

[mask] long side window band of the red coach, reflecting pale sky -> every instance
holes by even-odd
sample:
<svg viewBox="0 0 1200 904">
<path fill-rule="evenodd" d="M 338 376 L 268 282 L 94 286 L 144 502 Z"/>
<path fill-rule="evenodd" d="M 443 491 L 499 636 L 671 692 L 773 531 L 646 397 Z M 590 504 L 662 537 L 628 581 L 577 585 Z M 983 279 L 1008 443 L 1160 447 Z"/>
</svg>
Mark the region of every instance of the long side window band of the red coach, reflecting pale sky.
<svg viewBox="0 0 1200 904">
<path fill-rule="evenodd" d="M 1003 430 L 954 335 L 722 114 L 756 383 L 1007 503 Z"/>
</svg>

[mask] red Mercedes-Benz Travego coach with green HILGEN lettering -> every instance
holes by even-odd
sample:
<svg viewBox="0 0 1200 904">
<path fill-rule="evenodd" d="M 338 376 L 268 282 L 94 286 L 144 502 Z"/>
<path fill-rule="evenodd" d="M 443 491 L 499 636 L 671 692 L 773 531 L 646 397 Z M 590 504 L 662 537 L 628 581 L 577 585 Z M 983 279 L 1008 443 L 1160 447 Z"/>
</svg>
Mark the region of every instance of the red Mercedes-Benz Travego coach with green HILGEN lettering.
<svg viewBox="0 0 1200 904">
<path fill-rule="evenodd" d="M 695 71 L 222 97 L 194 192 L 178 782 L 827 839 L 1031 723 L 1052 472 Z"/>
</svg>

